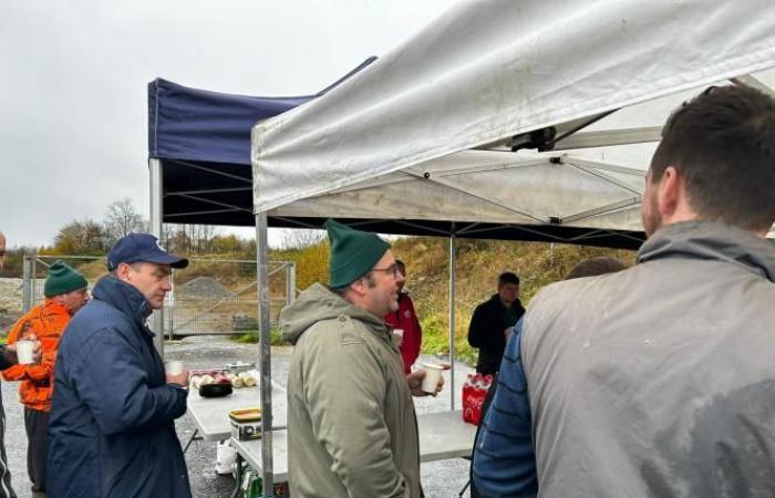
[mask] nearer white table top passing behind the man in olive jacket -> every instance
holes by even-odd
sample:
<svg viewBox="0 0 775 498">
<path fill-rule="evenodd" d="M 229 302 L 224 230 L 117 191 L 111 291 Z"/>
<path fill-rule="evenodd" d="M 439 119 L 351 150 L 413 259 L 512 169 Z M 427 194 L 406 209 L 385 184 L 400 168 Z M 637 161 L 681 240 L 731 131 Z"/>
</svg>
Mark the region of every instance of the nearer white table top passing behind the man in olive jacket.
<svg viewBox="0 0 775 498">
<path fill-rule="evenodd" d="M 443 460 L 471 455 L 476 426 L 463 422 L 459 409 L 417 415 L 420 461 Z M 256 470 L 262 468 L 261 440 L 231 440 L 242 458 Z M 288 481 L 288 430 L 272 432 L 275 481 Z"/>
</svg>

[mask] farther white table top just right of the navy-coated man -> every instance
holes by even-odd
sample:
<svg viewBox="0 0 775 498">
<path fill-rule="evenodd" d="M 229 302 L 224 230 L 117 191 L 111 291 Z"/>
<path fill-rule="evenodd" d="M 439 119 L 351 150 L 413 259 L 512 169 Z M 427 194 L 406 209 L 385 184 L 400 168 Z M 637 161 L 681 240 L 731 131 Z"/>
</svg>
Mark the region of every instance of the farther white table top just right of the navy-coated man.
<svg viewBox="0 0 775 498">
<path fill-rule="evenodd" d="M 285 427 L 288 421 L 286 391 L 273 385 L 271 397 L 273 425 Z M 205 440 L 228 439 L 231 437 L 229 412 L 259 406 L 261 391 L 258 387 L 234 390 L 224 397 L 202 397 L 196 390 L 188 393 L 188 415 Z"/>
</svg>

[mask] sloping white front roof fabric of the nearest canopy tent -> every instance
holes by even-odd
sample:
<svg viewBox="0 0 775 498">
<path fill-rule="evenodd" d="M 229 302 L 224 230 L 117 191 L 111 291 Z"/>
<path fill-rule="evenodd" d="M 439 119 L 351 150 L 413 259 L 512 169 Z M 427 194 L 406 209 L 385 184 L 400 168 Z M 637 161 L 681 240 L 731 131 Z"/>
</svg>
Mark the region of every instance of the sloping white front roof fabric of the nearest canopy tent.
<svg viewBox="0 0 775 498">
<path fill-rule="evenodd" d="M 561 145 L 618 108 L 765 70 L 774 17 L 766 0 L 459 3 L 326 97 L 254 128 L 255 210 L 551 126 Z M 658 129 L 572 136 L 593 146 Z M 431 212 L 444 219 L 447 206 Z"/>
</svg>

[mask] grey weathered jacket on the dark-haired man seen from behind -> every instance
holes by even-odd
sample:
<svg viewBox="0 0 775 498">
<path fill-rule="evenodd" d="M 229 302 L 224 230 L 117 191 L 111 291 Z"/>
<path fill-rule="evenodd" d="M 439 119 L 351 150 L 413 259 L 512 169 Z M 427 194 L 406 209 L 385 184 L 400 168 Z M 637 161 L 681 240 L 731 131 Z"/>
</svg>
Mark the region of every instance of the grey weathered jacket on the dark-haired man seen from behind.
<svg viewBox="0 0 775 498">
<path fill-rule="evenodd" d="M 540 496 L 775 496 L 774 282 L 768 241 L 690 221 L 629 270 L 534 298 L 521 360 Z"/>
</svg>

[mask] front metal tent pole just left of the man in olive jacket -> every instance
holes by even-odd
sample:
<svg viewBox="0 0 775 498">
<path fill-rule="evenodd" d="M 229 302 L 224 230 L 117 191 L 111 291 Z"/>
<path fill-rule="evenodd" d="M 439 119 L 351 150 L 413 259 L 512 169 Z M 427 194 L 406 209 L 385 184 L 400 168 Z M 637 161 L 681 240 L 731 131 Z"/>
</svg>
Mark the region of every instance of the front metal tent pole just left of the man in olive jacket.
<svg viewBox="0 0 775 498">
<path fill-rule="evenodd" d="M 271 331 L 267 274 L 267 214 L 256 215 L 256 281 L 258 282 L 258 364 L 261 370 L 261 480 L 264 497 L 275 495 L 271 406 Z"/>
</svg>

